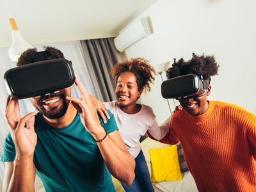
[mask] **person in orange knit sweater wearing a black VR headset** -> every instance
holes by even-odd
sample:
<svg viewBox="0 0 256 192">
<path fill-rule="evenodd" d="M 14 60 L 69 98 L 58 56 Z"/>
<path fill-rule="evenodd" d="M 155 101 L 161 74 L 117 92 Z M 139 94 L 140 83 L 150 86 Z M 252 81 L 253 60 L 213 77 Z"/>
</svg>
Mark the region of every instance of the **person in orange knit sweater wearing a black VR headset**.
<svg viewBox="0 0 256 192">
<path fill-rule="evenodd" d="M 218 67 L 214 56 L 193 54 L 168 69 L 163 97 L 179 99 L 183 109 L 166 120 L 170 130 L 161 142 L 181 143 L 198 191 L 256 191 L 256 116 L 234 104 L 207 100 Z M 173 82 L 182 87 L 168 87 Z"/>
</svg>

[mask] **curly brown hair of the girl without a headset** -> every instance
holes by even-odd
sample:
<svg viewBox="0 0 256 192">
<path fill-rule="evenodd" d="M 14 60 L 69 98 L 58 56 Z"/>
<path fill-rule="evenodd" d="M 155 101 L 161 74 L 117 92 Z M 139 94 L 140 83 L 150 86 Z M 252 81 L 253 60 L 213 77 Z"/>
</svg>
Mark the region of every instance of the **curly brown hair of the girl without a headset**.
<svg viewBox="0 0 256 192">
<path fill-rule="evenodd" d="M 132 72 L 136 76 L 139 92 L 150 92 L 150 83 L 155 80 L 156 71 L 145 58 L 132 58 L 116 64 L 111 70 L 111 76 L 116 83 L 123 72 Z"/>
</svg>

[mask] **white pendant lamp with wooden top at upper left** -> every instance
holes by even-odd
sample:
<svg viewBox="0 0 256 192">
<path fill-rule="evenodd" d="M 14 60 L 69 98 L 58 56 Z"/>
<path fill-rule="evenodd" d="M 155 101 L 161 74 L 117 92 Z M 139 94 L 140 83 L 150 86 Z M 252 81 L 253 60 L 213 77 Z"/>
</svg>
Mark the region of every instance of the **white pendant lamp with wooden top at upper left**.
<svg viewBox="0 0 256 192">
<path fill-rule="evenodd" d="M 17 62 L 20 54 L 27 49 L 33 48 L 33 46 L 24 40 L 13 18 L 9 18 L 9 23 L 12 30 L 12 46 L 8 52 L 10 59 Z"/>
</svg>

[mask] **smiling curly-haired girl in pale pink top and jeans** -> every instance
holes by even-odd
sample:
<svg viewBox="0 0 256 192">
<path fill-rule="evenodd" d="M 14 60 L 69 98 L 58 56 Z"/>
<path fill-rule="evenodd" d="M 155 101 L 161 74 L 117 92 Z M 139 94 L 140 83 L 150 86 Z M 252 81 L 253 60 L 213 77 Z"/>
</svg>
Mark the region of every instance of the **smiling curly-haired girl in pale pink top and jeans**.
<svg viewBox="0 0 256 192">
<path fill-rule="evenodd" d="M 148 131 L 156 140 L 161 140 L 167 134 L 168 126 L 159 127 L 152 108 L 136 103 L 142 92 L 150 91 L 154 74 L 154 68 L 143 58 L 124 61 L 111 70 L 116 83 L 117 101 L 105 102 L 102 105 L 99 100 L 91 97 L 102 118 L 105 118 L 104 114 L 108 117 L 106 109 L 114 114 L 120 135 L 136 161 L 136 177 L 131 186 L 122 184 L 125 191 L 154 191 L 147 163 L 140 148 L 140 138 Z"/>
</svg>

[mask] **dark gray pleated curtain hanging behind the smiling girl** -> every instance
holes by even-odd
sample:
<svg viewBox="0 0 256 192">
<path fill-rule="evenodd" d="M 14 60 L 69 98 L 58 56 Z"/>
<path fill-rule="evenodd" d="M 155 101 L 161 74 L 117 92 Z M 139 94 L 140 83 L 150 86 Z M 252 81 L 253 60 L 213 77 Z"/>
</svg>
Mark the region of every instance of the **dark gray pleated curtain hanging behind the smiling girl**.
<svg viewBox="0 0 256 192">
<path fill-rule="evenodd" d="M 121 60 L 113 38 L 81 40 L 84 60 L 95 88 L 97 99 L 106 102 L 115 99 L 115 84 L 109 74 L 111 68 Z"/>
</svg>

